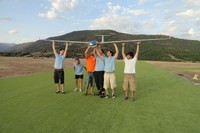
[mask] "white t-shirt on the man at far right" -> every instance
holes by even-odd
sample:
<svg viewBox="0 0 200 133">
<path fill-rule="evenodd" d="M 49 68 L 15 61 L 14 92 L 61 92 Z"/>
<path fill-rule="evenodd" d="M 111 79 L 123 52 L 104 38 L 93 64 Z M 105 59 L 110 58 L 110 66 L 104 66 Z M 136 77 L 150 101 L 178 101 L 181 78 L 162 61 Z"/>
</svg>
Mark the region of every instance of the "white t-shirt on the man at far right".
<svg viewBox="0 0 200 133">
<path fill-rule="evenodd" d="M 136 71 L 135 71 L 135 67 L 136 67 L 136 58 L 134 57 L 133 59 L 127 59 L 125 58 L 124 59 L 124 62 L 125 62 L 125 67 L 124 67 L 124 73 L 130 73 L 130 74 L 135 74 Z"/>
</svg>

